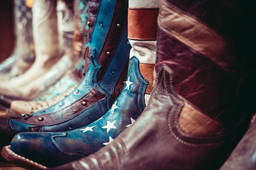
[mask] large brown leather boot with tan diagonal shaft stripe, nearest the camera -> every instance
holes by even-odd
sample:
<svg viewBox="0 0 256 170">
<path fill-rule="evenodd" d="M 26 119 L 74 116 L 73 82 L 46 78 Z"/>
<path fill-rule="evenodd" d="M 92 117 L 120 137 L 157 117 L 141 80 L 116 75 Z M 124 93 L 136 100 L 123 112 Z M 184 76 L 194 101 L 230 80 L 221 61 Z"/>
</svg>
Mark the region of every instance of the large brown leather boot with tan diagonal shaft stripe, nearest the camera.
<svg viewBox="0 0 256 170">
<path fill-rule="evenodd" d="M 242 62 L 235 46 L 241 37 L 234 36 L 242 8 L 223 1 L 161 0 L 156 84 L 148 106 L 107 146 L 55 169 L 220 168 L 251 111 L 240 112 L 236 103 L 247 76 L 238 74 Z"/>
</svg>

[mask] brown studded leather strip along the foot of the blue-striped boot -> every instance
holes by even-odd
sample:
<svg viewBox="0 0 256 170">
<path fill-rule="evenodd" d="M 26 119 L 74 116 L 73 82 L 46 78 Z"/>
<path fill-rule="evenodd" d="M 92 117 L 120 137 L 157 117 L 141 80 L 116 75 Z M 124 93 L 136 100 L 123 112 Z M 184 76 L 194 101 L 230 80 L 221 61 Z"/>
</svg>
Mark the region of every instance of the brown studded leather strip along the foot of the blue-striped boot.
<svg viewBox="0 0 256 170">
<path fill-rule="evenodd" d="M 37 124 L 37 125 L 51 125 L 51 124 L 57 124 L 63 121 L 66 121 L 75 115 L 79 115 L 82 111 L 84 111 L 86 108 L 89 108 L 92 106 L 95 102 L 103 99 L 105 97 L 104 94 L 100 93 L 96 89 L 92 89 L 89 93 L 87 93 L 84 97 L 81 99 L 75 101 L 70 106 L 63 108 L 61 111 L 55 112 L 55 113 L 49 113 L 44 115 L 38 115 L 38 116 L 31 116 L 27 120 L 23 120 L 20 118 L 13 118 L 18 119 L 20 122 L 24 122 L 27 124 Z M 86 102 L 86 105 L 84 106 L 82 102 Z M 39 121 L 38 118 L 43 117 L 43 121 Z"/>
</svg>

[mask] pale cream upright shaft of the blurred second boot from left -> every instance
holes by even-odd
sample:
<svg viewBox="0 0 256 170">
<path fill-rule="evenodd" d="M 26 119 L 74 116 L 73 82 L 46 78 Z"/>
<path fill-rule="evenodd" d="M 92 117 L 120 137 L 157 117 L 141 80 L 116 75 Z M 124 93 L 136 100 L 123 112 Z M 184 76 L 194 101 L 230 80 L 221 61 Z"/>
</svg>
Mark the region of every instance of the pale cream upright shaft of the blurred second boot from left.
<svg viewBox="0 0 256 170">
<path fill-rule="evenodd" d="M 32 16 L 36 62 L 51 67 L 60 59 L 56 0 L 35 0 Z"/>
</svg>

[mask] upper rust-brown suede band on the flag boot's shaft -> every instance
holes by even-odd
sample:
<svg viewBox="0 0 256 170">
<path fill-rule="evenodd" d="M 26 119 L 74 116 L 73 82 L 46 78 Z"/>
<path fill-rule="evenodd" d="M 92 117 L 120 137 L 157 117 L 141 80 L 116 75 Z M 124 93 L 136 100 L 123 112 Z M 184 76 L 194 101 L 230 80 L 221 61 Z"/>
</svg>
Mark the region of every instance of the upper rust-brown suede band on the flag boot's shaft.
<svg viewBox="0 0 256 170">
<path fill-rule="evenodd" d="M 156 40 L 159 8 L 128 8 L 128 39 Z"/>
</svg>

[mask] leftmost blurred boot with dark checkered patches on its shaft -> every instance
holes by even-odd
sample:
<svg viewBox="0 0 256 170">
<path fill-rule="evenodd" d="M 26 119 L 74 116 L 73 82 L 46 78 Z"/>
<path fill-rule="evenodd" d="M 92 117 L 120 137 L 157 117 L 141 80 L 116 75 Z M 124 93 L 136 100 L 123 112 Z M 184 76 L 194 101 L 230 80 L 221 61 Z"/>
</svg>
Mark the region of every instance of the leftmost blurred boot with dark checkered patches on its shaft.
<svg viewBox="0 0 256 170">
<path fill-rule="evenodd" d="M 13 2 L 16 45 L 11 57 L 0 65 L 1 80 L 23 74 L 35 60 L 31 9 L 26 6 L 25 0 Z"/>
</svg>

